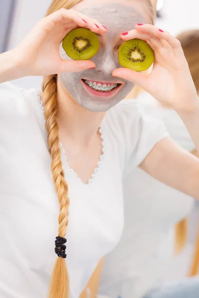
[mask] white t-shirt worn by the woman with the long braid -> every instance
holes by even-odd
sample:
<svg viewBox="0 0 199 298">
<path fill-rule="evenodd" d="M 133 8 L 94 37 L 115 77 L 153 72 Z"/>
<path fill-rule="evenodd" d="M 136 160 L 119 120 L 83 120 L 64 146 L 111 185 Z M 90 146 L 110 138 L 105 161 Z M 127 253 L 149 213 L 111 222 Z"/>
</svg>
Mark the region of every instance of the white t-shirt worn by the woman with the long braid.
<svg viewBox="0 0 199 298">
<path fill-rule="evenodd" d="M 107 112 L 101 136 L 103 154 L 88 184 L 69 168 L 62 150 L 71 298 L 79 297 L 101 257 L 119 242 L 124 176 L 168 134 L 129 100 Z M 59 209 L 39 92 L 0 84 L 0 298 L 47 297 Z"/>
</svg>

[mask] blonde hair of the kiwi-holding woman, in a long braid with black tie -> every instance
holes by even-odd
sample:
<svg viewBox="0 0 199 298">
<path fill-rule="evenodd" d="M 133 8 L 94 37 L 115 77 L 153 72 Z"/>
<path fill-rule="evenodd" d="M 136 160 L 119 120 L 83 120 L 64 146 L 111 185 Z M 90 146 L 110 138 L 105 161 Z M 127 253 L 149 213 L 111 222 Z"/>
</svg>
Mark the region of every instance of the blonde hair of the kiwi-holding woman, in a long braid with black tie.
<svg viewBox="0 0 199 298">
<path fill-rule="evenodd" d="M 46 16 L 57 11 L 60 8 L 70 9 L 82 0 L 53 0 Z M 154 10 L 150 0 L 145 0 L 150 15 L 150 20 L 154 21 Z M 49 151 L 52 158 L 51 170 L 53 181 L 60 202 L 59 215 L 59 234 L 65 237 L 68 225 L 68 185 L 64 178 L 64 170 L 62 168 L 61 150 L 59 141 L 59 126 L 57 124 L 57 74 L 46 75 L 42 83 L 42 100 L 44 104 L 44 115 L 46 119 L 46 130 L 48 133 Z M 49 298 L 69 298 L 69 276 L 65 259 L 58 257 L 55 263 L 50 289 Z"/>
</svg>

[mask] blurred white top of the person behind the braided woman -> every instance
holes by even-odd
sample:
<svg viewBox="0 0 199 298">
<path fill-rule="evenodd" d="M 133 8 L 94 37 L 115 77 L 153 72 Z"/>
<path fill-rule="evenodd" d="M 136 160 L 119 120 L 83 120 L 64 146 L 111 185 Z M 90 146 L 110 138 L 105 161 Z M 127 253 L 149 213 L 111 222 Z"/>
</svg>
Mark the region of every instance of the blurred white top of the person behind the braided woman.
<svg viewBox="0 0 199 298">
<path fill-rule="evenodd" d="M 195 148 L 183 121 L 144 92 L 137 101 L 148 116 L 164 120 L 184 149 Z M 174 252 L 174 225 L 186 217 L 194 199 L 155 180 L 139 168 L 124 179 L 124 230 L 107 255 L 100 293 L 110 298 L 141 298 L 161 278 Z"/>
</svg>

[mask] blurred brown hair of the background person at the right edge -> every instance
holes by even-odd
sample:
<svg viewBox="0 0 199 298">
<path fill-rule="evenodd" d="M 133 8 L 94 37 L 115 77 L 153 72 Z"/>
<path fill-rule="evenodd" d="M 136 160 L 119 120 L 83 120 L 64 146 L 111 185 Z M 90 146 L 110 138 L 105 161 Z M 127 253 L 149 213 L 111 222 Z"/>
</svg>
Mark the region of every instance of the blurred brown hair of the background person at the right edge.
<svg viewBox="0 0 199 298">
<path fill-rule="evenodd" d="M 199 30 L 184 31 L 176 38 L 181 42 L 196 89 L 199 91 Z"/>
</svg>

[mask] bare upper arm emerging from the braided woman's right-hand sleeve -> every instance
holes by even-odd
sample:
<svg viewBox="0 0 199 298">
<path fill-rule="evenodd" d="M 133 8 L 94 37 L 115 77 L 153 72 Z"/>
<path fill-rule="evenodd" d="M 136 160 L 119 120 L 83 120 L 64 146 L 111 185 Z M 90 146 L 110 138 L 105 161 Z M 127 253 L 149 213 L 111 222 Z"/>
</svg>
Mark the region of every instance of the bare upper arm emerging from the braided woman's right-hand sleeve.
<svg viewBox="0 0 199 298">
<path fill-rule="evenodd" d="M 140 168 L 155 179 L 199 200 L 199 158 L 170 138 L 156 144 Z"/>
</svg>

